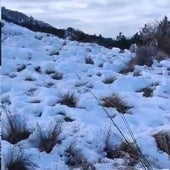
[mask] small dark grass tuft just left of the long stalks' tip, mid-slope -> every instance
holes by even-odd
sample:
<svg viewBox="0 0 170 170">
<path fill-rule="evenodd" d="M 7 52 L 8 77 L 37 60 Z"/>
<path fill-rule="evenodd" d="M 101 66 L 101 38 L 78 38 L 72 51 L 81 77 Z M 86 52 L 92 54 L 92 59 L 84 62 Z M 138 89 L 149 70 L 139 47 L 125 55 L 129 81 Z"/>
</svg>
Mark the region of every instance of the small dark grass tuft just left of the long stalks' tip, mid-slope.
<svg viewBox="0 0 170 170">
<path fill-rule="evenodd" d="M 62 105 L 67 105 L 69 107 L 76 107 L 77 105 L 77 99 L 72 93 L 64 94 L 58 102 Z"/>
</svg>

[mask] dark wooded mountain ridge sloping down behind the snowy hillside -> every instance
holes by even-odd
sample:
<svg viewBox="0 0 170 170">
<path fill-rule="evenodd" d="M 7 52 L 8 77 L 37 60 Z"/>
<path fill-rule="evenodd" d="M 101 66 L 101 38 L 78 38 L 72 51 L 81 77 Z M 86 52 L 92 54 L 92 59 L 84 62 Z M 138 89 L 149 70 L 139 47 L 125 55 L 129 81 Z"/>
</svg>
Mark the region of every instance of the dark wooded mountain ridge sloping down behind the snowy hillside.
<svg viewBox="0 0 170 170">
<path fill-rule="evenodd" d="M 106 48 L 119 47 L 123 49 L 128 49 L 130 47 L 130 42 L 127 42 L 121 47 L 120 41 L 114 40 L 112 38 L 104 38 L 102 35 L 89 35 L 83 31 L 76 30 L 72 27 L 67 29 L 58 29 L 51 26 L 48 23 L 34 19 L 32 16 L 27 16 L 21 12 L 13 11 L 5 7 L 1 7 L 1 17 L 2 19 L 12 22 L 14 24 L 26 27 L 32 31 L 49 33 L 59 38 L 70 39 L 72 41 L 96 43 L 98 45 L 104 46 Z"/>
</svg>

